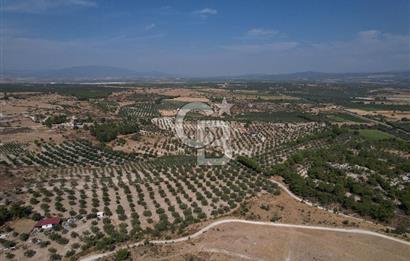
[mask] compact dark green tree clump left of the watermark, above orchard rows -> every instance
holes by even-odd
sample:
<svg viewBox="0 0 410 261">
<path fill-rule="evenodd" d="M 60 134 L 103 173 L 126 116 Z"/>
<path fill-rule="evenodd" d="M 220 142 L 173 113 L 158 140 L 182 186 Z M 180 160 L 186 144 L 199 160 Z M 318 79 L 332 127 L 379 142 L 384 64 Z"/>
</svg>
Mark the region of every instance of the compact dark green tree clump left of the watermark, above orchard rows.
<svg viewBox="0 0 410 261">
<path fill-rule="evenodd" d="M 90 128 L 91 134 L 101 142 L 112 141 L 117 138 L 118 134 L 126 135 L 138 131 L 138 124 L 132 121 L 95 123 L 94 126 Z"/>
</svg>

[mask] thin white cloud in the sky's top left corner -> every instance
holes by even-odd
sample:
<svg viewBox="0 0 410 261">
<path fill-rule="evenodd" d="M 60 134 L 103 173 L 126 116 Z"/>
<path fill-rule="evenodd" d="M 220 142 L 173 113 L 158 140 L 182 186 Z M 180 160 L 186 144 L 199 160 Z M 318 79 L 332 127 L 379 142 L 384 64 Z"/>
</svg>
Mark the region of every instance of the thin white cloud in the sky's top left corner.
<svg viewBox="0 0 410 261">
<path fill-rule="evenodd" d="M 41 13 L 62 7 L 96 7 L 92 0 L 4 0 L 4 12 Z"/>
</svg>

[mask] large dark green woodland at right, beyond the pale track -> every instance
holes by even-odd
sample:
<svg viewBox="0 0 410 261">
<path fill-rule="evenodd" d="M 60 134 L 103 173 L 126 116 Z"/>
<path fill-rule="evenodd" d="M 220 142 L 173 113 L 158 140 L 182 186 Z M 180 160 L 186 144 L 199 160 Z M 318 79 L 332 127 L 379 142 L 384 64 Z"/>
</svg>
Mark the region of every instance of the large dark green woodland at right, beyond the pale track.
<svg viewBox="0 0 410 261">
<path fill-rule="evenodd" d="M 389 221 L 395 211 L 394 200 L 399 199 L 410 213 L 410 186 L 400 192 L 390 183 L 410 172 L 410 161 L 378 149 L 382 141 L 364 141 L 355 135 L 350 138 L 350 142 L 328 149 L 298 152 L 285 163 L 273 166 L 270 173 L 283 176 L 295 194 L 323 205 L 339 203 L 361 215 Z M 346 175 L 347 170 L 334 168 L 329 162 L 359 165 L 368 171 L 357 170 L 359 176 L 352 178 Z M 308 168 L 307 177 L 297 173 L 297 166 Z"/>
</svg>

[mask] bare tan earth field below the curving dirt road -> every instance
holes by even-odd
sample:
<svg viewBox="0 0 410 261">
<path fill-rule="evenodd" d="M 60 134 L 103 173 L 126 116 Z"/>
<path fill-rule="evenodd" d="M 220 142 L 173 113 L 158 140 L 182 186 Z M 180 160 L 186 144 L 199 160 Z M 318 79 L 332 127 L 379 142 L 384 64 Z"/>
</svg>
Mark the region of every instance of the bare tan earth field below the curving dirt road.
<svg viewBox="0 0 410 261">
<path fill-rule="evenodd" d="M 224 224 L 198 239 L 144 246 L 133 260 L 409 260 L 404 244 L 367 235 Z M 196 259 L 195 259 L 196 258 Z"/>
</svg>

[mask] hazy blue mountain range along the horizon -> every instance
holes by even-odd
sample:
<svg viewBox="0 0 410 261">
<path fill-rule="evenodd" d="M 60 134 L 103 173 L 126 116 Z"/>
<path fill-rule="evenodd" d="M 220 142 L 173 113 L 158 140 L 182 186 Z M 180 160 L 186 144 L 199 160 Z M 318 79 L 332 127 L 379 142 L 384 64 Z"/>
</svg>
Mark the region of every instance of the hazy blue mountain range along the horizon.
<svg viewBox="0 0 410 261">
<path fill-rule="evenodd" d="M 132 80 L 264 80 L 264 81 L 378 81 L 410 82 L 410 71 L 391 71 L 374 73 L 325 73 L 297 72 L 287 74 L 248 74 L 218 77 L 181 77 L 163 72 L 136 72 L 113 66 L 76 66 L 55 70 L 39 71 L 6 71 L 5 77 L 10 80 L 23 81 L 132 81 Z"/>
</svg>

